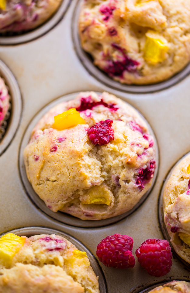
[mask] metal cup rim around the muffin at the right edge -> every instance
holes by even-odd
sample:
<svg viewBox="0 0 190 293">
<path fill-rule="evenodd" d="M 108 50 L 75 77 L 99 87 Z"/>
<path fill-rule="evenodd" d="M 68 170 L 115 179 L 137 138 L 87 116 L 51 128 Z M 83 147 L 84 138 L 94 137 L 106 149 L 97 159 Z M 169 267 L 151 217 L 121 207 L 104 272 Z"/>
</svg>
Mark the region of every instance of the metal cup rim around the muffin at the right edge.
<svg viewBox="0 0 190 293">
<path fill-rule="evenodd" d="M 159 216 L 159 223 L 160 223 L 160 227 L 161 227 L 161 231 L 162 231 L 162 234 L 164 236 L 165 239 L 167 239 L 169 242 L 170 242 L 170 236 L 168 234 L 168 231 L 167 231 L 167 228 L 166 228 L 166 225 L 164 223 L 164 210 L 163 210 L 163 194 L 164 194 L 164 189 L 165 189 L 165 186 L 172 174 L 172 172 L 174 171 L 174 168 L 186 157 L 188 156 L 190 153 L 188 154 L 185 154 L 181 159 L 179 159 L 177 161 L 177 163 L 171 167 L 171 170 L 168 172 L 168 174 L 166 175 L 166 178 L 164 179 L 163 181 L 163 184 L 162 184 L 162 188 L 161 188 L 161 191 L 160 191 L 160 196 L 159 196 L 159 200 L 158 200 L 158 216 Z M 171 245 L 171 248 L 172 248 L 172 252 L 173 254 L 190 270 L 190 264 L 188 262 L 186 262 L 184 259 L 182 259 L 178 254 L 177 252 L 175 251 L 175 249 L 173 248 L 171 242 L 170 242 L 170 245 Z"/>
</svg>

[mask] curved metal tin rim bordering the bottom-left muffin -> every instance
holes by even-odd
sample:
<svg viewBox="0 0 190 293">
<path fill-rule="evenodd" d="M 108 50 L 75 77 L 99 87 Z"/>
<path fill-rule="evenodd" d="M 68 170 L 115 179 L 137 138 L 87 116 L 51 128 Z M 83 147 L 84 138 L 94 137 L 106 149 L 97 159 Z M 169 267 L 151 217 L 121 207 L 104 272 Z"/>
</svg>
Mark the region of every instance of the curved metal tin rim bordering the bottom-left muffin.
<svg viewBox="0 0 190 293">
<path fill-rule="evenodd" d="M 61 231 L 61 230 L 58 230 L 57 228 L 51 228 L 51 227 L 46 227 L 46 226 L 26 226 L 26 227 L 20 227 L 20 228 L 16 228 L 16 229 L 13 229 L 13 230 L 9 230 L 7 232 L 4 232 L 2 234 L 0 234 L 0 238 L 7 234 L 7 233 L 22 233 L 22 231 L 26 231 L 26 230 L 29 230 L 29 233 L 30 233 L 30 230 L 44 230 L 44 232 L 47 230 L 49 231 L 53 231 L 53 232 L 56 232 L 56 233 L 59 233 L 59 234 L 56 234 L 56 233 L 52 233 L 52 234 L 55 234 L 55 235 L 60 235 L 64 238 L 67 239 L 67 237 L 69 239 L 67 239 L 68 241 L 70 241 L 72 244 L 74 244 L 77 248 L 79 247 L 79 250 L 83 250 L 87 253 L 88 255 L 88 259 L 90 260 L 90 265 L 93 269 L 93 271 L 95 272 L 95 275 L 96 276 L 99 276 L 98 278 L 98 283 L 99 283 L 99 289 L 100 290 L 100 293 L 107 293 L 108 292 L 108 289 L 107 289 L 107 282 L 106 282 L 106 278 L 105 278 L 105 275 L 103 273 L 103 270 L 101 268 L 101 266 L 99 265 L 98 263 L 98 260 L 96 259 L 96 257 L 93 255 L 93 253 L 90 251 L 90 249 L 88 249 L 88 247 L 85 246 L 85 244 L 83 244 L 80 240 L 78 240 L 76 237 L 64 232 L 64 231 Z M 49 234 L 49 232 L 45 232 L 45 233 L 41 233 L 41 234 Z M 34 234 L 34 235 L 40 235 L 40 234 Z M 33 236 L 34 236 L 33 235 Z M 21 235 L 21 236 L 26 236 L 26 235 Z M 101 282 L 99 282 L 99 280 L 101 280 Z"/>
</svg>

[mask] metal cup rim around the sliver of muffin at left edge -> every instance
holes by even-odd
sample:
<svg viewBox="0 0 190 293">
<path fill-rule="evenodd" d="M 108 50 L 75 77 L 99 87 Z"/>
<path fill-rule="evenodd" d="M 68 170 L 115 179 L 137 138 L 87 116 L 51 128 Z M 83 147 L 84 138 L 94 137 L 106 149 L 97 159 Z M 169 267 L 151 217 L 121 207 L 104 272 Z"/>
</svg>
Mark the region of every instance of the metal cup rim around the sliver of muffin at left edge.
<svg viewBox="0 0 190 293">
<path fill-rule="evenodd" d="M 19 84 L 14 74 L 2 60 L 0 60 L 0 75 L 5 79 L 5 85 L 9 87 L 9 95 L 11 98 L 11 113 L 9 117 L 10 121 L 5 129 L 5 134 L 0 141 L 1 156 L 9 147 L 19 128 L 22 117 L 23 101 Z"/>
</svg>

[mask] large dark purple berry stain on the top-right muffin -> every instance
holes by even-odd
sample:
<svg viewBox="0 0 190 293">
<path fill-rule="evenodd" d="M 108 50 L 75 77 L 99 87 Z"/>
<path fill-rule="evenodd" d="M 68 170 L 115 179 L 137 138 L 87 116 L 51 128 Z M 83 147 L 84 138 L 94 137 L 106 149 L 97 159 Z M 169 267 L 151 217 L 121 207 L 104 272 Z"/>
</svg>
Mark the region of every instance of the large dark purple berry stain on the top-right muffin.
<svg viewBox="0 0 190 293">
<path fill-rule="evenodd" d="M 112 44 L 112 47 L 122 53 L 123 60 L 122 61 L 108 60 L 108 66 L 104 68 L 104 71 L 107 74 L 109 74 L 111 77 L 119 76 L 121 78 L 123 77 L 124 71 L 129 71 L 129 72 L 135 71 L 136 67 L 139 65 L 139 62 L 128 57 L 125 54 L 124 49 L 120 48 L 118 45 Z"/>
</svg>

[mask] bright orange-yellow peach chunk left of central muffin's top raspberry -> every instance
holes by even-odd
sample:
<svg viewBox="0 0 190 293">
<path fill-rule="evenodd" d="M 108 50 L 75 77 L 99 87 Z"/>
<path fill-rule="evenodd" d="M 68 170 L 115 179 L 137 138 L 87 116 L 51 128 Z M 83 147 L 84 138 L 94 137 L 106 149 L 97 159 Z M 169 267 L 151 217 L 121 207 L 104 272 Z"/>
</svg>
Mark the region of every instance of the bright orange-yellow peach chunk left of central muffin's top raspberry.
<svg viewBox="0 0 190 293">
<path fill-rule="evenodd" d="M 55 116 L 52 127 L 57 130 L 64 130 L 78 124 L 86 124 L 86 122 L 81 118 L 79 112 L 75 108 L 71 108 L 62 114 Z"/>
</svg>

